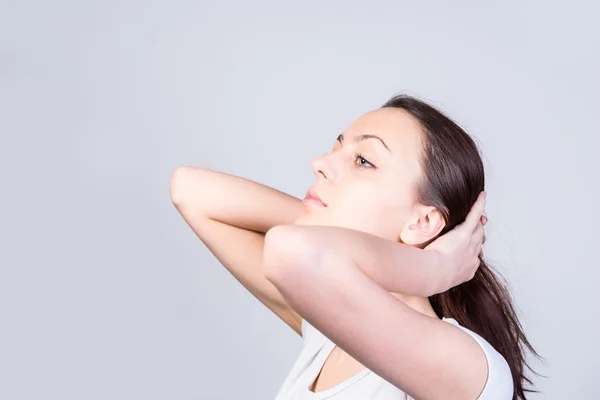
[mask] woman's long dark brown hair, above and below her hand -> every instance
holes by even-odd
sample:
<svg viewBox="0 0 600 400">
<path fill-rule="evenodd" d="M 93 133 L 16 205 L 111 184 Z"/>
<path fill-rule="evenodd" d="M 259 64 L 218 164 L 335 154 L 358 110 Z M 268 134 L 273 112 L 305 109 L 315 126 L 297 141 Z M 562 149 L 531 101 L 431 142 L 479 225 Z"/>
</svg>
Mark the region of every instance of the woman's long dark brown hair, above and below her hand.
<svg viewBox="0 0 600 400">
<path fill-rule="evenodd" d="M 416 187 L 416 199 L 440 210 L 446 221 L 439 234 L 443 235 L 465 220 L 477 196 L 485 190 L 477 146 L 458 124 L 415 97 L 399 94 L 384 107 L 405 110 L 421 126 L 423 178 Z M 535 373 L 525 360 L 525 351 L 541 357 L 523 332 L 504 278 L 486 264 L 482 255 L 479 258 L 481 264 L 473 279 L 429 300 L 438 317 L 456 319 L 502 354 L 512 373 L 513 400 L 525 399 L 525 392 L 537 392 L 525 376 L 525 368 Z"/>
</svg>

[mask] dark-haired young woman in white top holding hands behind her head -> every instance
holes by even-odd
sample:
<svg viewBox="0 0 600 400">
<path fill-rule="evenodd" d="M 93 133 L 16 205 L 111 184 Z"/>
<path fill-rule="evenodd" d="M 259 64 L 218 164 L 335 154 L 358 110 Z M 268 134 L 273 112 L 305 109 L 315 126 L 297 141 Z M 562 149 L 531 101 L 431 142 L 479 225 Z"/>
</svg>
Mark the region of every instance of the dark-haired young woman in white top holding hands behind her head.
<svg viewBox="0 0 600 400">
<path fill-rule="evenodd" d="M 313 171 L 302 201 L 197 167 L 171 178 L 202 242 L 303 337 L 277 399 L 524 399 L 524 351 L 536 353 L 481 253 L 469 135 L 398 95 Z"/>
</svg>

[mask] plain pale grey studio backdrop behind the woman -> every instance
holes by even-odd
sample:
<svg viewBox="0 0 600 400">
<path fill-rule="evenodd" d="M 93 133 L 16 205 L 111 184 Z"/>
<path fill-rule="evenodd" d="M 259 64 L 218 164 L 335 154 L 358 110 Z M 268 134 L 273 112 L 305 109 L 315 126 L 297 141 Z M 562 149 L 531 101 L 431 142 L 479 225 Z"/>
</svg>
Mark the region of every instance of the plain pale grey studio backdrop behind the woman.
<svg viewBox="0 0 600 400">
<path fill-rule="evenodd" d="M 531 398 L 597 398 L 600 7 L 360 3 L 1 3 L 1 399 L 274 398 L 302 340 L 185 224 L 171 174 L 302 197 L 396 93 L 483 152 L 487 257 L 546 358 Z"/>
</svg>

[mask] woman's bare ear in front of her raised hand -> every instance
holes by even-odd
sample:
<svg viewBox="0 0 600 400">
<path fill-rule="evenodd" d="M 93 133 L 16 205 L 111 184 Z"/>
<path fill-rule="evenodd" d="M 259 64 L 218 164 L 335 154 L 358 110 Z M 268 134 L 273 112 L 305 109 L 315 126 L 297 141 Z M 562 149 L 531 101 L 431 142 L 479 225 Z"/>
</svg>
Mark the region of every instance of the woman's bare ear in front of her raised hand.
<svg viewBox="0 0 600 400">
<path fill-rule="evenodd" d="M 399 241 L 411 246 L 422 245 L 439 235 L 444 226 L 446 226 L 446 222 L 437 208 L 422 207 L 404 225 Z"/>
</svg>

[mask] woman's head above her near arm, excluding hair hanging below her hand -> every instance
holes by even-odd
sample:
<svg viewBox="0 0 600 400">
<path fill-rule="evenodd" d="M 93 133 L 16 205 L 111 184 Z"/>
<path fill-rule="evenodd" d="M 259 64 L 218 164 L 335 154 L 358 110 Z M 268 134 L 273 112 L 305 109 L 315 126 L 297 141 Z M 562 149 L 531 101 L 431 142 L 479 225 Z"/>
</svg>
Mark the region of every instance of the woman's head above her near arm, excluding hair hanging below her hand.
<svg viewBox="0 0 600 400">
<path fill-rule="evenodd" d="M 472 139 L 433 107 L 395 96 L 354 121 L 313 161 L 314 192 L 297 223 L 353 228 L 423 247 L 463 220 L 483 190 Z"/>
</svg>

